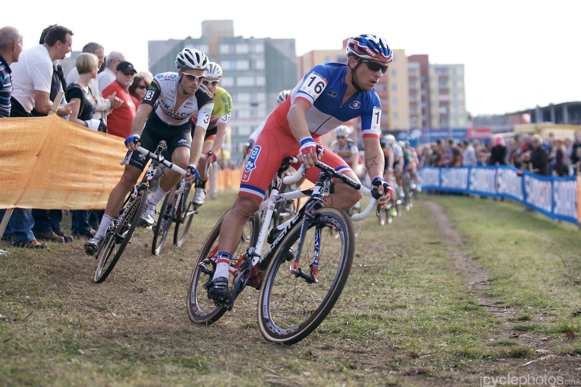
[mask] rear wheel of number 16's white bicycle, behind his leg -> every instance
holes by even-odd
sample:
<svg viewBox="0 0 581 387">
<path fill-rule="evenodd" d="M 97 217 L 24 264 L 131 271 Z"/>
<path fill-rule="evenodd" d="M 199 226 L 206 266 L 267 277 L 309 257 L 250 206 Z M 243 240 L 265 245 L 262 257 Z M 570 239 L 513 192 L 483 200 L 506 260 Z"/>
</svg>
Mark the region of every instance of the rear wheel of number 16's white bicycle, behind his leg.
<svg viewBox="0 0 581 387">
<path fill-rule="evenodd" d="M 206 285 L 214 276 L 216 269 L 216 255 L 218 254 L 218 236 L 220 236 L 220 227 L 226 214 L 218 220 L 216 226 L 211 230 L 209 236 L 200 251 L 198 260 L 192 270 L 192 277 L 189 283 L 188 292 L 188 316 L 194 323 L 211 324 L 216 322 L 226 312 L 227 306 L 215 305 L 208 298 Z M 242 237 L 234 254 L 232 254 L 232 266 L 238 267 L 241 259 L 245 258 L 246 249 L 256 245 L 259 234 L 258 216 L 254 215 L 246 222 Z M 232 282 L 232 281 L 230 281 Z M 232 285 L 232 284 L 231 284 Z"/>
</svg>

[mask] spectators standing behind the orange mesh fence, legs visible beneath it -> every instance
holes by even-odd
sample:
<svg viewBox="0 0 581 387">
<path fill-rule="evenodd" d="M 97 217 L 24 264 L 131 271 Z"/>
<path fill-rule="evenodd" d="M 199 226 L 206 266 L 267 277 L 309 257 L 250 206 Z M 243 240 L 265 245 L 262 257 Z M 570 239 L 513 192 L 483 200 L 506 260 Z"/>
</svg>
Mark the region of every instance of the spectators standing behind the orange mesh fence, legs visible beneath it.
<svg viewBox="0 0 581 387">
<path fill-rule="evenodd" d="M 52 24 L 41 32 L 38 45 L 23 50 L 24 37 L 17 28 L 0 28 L 0 120 L 58 114 L 123 142 L 153 75 L 138 72 L 119 51 L 105 56 L 105 48 L 95 42 L 85 44 L 76 67 L 63 74 L 59 60 L 71 52 L 73 37 L 69 28 Z M 55 102 L 59 92 L 63 97 Z M 0 210 L 0 219 L 5 213 Z M 64 243 L 91 238 L 99 213 L 72 211 L 69 234 L 60 224 L 62 210 L 15 208 L 2 238 L 15 247 L 36 249 L 47 247 L 38 240 Z"/>
</svg>

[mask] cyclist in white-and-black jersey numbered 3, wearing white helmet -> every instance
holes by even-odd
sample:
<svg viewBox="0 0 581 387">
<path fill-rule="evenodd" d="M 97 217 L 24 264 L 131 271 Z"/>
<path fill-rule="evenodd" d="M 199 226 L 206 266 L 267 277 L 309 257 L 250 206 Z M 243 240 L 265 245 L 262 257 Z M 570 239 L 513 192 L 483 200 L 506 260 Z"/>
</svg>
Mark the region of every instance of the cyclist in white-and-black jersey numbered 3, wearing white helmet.
<svg viewBox="0 0 581 387">
<path fill-rule="evenodd" d="M 177 73 L 161 73 L 153 78 L 132 122 L 131 136 L 125 139 L 125 146 L 133 151 L 133 154 L 125 165 L 121 180 L 109 195 L 99 230 L 85 243 L 87 254 L 92 255 L 101 247 L 107 228 L 121 211 L 125 197 L 147 164 L 147 158 L 139 151 L 135 151 L 138 146 L 153 151 L 160 140 L 166 140 L 171 161 L 188 171 L 186 182 L 191 183 L 199 178 L 196 164 L 202 153 L 204 134 L 214 108 L 213 96 L 202 87 L 204 71 L 207 70 L 209 63 L 203 52 L 184 48 L 175 58 Z M 192 141 L 193 114 L 198 114 L 196 129 L 199 130 L 195 131 Z M 203 119 L 200 119 L 202 117 Z M 153 224 L 157 204 L 181 178 L 180 173 L 168 169 L 141 215 L 140 222 L 143 225 Z"/>
</svg>

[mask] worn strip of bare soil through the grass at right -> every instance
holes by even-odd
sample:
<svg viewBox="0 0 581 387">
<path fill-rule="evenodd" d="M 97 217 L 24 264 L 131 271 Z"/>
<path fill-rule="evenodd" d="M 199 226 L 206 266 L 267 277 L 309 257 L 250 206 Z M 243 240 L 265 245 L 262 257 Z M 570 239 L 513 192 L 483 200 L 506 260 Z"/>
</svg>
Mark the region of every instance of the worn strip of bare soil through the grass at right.
<svg viewBox="0 0 581 387">
<path fill-rule="evenodd" d="M 429 209 L 431 214 L 431 221 L 437 222 L 440 227 L 439 230 L 443 234 L 443 240 L 446 241 L 452 258 L 456 262 L 458 273 L 466 278 L 466 288 L 468 294 L 475 299 L 479 306 L 485 308 L 494 317 L 503 321 L 499 325 L 499 336 L 497 339 L 512 339 L 519 342 L 522 346 L 527 346 L 535 353 L 534 357 L 523 358 L 508 358 L 497 360 L 492 367 L 481 375 L 508 375 L 510 373 L 514 376 L 535 376 L 544 377 L 546 381 L 551 381 L 549 377 L 562 377 L 563 385 L 566 381 L 570 381 L 569 385 L 581 384 L 581 361 L 579 356 L 560 355 L 555 352 L 555 345 L 562 343 L 561 339 L 554 338 L 548 335 L 533 334 L 530 332 L 522 332 L 514 329 L 516 320 L 511 320 L 511 317 L 517 317 L 520 309 L 511 308 L 508 305 L 503 305 L 504 301 L 500 299 L 490 298 L 485 295 L 485 291 L 490 285 L 490 278 L 485 270 L 480 269 L 471 257 L 466 256 L 460 249 L 460 245 L 464 241 L 464 237 L 458 230 L 454 228 L 453 222 L 448 218 L 446 212 L 439 204 L 433 201 L 425 200 L 422 204 Z M 539 319 L 539 317 L 546 316 L 544 310 L 536 310 L 532 312 L 532 320 Z M 528 379 L 528 384 L 525 385 L 558 385 L 557 383 L 539 384 L 541 379 Z M 517 384 L 518 385 L 518 384 Z"/>
</svg>

